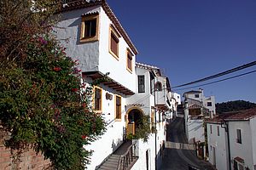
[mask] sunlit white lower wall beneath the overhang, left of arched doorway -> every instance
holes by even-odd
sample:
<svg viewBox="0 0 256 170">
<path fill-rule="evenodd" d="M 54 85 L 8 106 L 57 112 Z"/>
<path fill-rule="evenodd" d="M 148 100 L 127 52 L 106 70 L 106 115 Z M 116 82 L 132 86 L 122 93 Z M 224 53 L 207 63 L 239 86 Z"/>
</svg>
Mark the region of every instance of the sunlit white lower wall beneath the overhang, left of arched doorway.
<svg viewBox="0 0 256 170">
<path fill-rule="evenodd" d="M 95 169 L 96 166 L 102 163 L 102 161 L 114 150 L 116 150 L 120 144 L 123 142 L 123 134 L 125 128 L 125 98 L 121 98 L 121 121 L 114 120 L 114 95 L 117 94 L 113 89 L 102 87 L 102 116 L 105 122 L 109 123 L 107 126 L 107 131 L 104 133 L 100 139 L 97 139 L 92 144 L 86 146 L 87 150 L 94 150 L 92 156 L 90 157 L 91 162 L 88 169 Z M 113 99 L 106 99 L 106 93 L 112 94 Z M 120 94 L 119 94 L 120 95 Z M 103 147 L 102 147 L 103 146 Z"/>
</svg>

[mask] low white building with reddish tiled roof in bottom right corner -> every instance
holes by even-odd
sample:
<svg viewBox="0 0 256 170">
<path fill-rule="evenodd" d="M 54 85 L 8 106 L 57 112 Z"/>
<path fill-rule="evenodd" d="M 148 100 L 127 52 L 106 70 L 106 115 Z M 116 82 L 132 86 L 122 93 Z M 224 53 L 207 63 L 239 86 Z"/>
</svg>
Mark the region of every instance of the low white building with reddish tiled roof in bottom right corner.
<svg viewBox="0 0 256 170">
<path fill-rule="evenodd" d="M 217 169 L 256 169 L 256 108 L 207 120 L 209 161 Z"/>
</svg>

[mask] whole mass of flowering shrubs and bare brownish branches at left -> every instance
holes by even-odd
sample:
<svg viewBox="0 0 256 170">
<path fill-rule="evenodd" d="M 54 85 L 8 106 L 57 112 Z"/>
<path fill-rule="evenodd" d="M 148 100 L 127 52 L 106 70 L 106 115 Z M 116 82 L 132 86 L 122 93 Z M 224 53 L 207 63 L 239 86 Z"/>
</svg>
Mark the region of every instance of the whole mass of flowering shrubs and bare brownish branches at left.
<svg viewBox="0 0 256 170">
<path fill-rule="evenodd" d="M 84 169 L 86 144 L 104 130 L 81 84 L 78 61 L 67 57 L 51 27 L 60 3 L 0 2 L 0 127 L 14 150 L 42 151 L 55 169 Z M 20 153 L 20 152 L 18 152 Z"/>
</svg>

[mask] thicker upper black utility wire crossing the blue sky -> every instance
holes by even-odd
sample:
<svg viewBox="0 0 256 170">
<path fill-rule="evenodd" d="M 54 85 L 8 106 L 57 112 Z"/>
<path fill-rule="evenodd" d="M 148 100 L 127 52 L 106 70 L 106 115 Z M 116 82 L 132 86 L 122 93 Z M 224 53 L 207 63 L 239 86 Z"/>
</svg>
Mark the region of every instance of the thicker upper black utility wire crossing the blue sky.
<svg viewBox="0 0 256 170">
<path fill-rule="evenodd" d="M 172 88 L 180 88 L 180 87 L 188 86 L 188 85 L 195 84 L 195 83 L 198 83 L 198 82 L 205 82 L 205 81 L 207 81 L 207 80 L 211 80 L 211 79 L 217 78 L 217 77 L 222 77 L 222 76 L 224 76 L 224 75 L 230 74 L 230 73 L 235 72 L 235 71 L 240 71 L 240 70 L 242 70 L 242 69 L 246 69 L 247 67 L 251 67 L 251 66 L 253 66 L 253 65 L 256 65 L 256 61 L 253 61 L 253 62 L 248 63 L 248 64 L 246 64 L 246 65 L 238 66 L 238 67 L 233 68 L 233 69 L 230 69 L 230 70 L 228 70 L 228 71 L 220 72 L 220 73 L 215 74 L 215 75 L 212 75 L 212 76 L 210 76 L 210 77 L 205 77 L 205 78 L 201 78 L 201 79 L 199 79 L 199 80 L 193 81 L 193 82 L 188 82 L 188 83 L 184 83 L 184 84 L 182 84 L 182 85 L 174 86 L 174 87 L 172 87 Z"/>
</svg>

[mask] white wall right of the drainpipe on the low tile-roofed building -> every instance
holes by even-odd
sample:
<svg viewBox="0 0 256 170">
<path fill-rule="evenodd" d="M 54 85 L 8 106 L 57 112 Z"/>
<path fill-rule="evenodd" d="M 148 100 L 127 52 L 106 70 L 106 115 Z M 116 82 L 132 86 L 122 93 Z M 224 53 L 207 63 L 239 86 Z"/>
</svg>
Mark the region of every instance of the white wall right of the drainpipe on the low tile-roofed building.
<svg viewBox="0 0 256 170">
<path fill-rule="evenodd" d="M 255 144 L 252 144 L 252 131 L 249 121 L 229 122 L 229 126 L 231 159 L 233 160 L 236 156 L 239 156 L 244 159 L 245 167 L 253 169 L 253 145 Z M 236 129 L 241 129 L 241 144 L 236 142 Z"/>
</svg>

